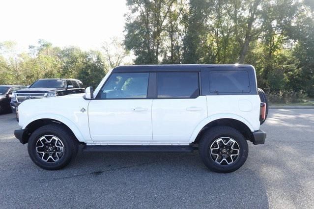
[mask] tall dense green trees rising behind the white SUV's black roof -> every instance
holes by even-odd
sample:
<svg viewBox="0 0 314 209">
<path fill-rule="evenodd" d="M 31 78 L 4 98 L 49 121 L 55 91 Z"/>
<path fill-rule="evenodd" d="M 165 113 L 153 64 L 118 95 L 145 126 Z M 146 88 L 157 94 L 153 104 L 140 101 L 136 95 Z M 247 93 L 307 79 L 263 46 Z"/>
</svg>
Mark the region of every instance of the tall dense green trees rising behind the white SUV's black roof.
<svg viewBox="0 0 314 209">
<path fill-rule="evenodd" d="M 243 63 L 268 92 L 314 96 L 311 0 L 127 0 L 136 64 Z"/>
</svg>

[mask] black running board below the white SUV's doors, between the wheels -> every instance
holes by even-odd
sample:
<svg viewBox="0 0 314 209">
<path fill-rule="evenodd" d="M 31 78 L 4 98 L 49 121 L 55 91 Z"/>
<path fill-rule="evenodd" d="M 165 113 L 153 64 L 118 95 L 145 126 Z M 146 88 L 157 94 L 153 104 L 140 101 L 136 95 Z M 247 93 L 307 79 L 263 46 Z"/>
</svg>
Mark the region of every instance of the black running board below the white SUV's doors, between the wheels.
<svg viewBox="0 0 314 209">
<path fill-rule="evenodd" d="M 85 145 L 84 152 L 166 152 L 192 153 L 192 146 L 127 146 L 127 145 Z"/>
</svg>

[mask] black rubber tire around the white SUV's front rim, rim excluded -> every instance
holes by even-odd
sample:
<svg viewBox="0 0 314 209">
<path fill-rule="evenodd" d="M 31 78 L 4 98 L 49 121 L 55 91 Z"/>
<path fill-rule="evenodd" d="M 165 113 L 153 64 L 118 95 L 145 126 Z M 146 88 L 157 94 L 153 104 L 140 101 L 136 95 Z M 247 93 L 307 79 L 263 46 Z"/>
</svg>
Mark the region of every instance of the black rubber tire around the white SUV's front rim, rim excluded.
<svg viewBox="0 0 314 209">
<path fill-rule="evenodd" d="M 56 162 L 45 162 L 36 151 L 38 140 L 45 135 L 56 136 L 63 144 L 63 155 L 60 158 L 58 157 L 59 159 Z M 29 157 L 36 165 L 43 169 L 58 170 L 69 164 L 71 159 L 77 155 L 78 145 L 77 139 L 74 138 L 73 134 L 65 127 L 59 124 L 46 125 L 37 129 L 30 135 L 28 142 Z"/>
</svg>

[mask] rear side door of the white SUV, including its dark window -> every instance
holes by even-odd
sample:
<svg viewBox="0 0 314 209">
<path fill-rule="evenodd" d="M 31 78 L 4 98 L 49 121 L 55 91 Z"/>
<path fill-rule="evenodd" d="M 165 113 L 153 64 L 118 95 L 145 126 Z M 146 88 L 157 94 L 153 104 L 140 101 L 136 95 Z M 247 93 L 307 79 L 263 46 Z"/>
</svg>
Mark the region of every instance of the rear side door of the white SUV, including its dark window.
<svg viewBox="0 0 314 209">
<path fill-rule="evenodd" d="M 152 105 L 154 142 L 189 142 L 206 116 L 206 97 L 200 96 L 198 71 L 157 72 L 157 99 Z"/>
</svg>

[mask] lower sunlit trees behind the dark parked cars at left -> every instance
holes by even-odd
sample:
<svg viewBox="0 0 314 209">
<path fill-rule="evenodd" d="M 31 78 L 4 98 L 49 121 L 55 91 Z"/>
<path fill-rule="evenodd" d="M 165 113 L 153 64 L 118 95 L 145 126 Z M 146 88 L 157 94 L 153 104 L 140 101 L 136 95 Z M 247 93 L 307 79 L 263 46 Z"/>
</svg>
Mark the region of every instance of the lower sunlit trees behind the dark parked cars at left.
<svg viewBox="0 0 314 209">
<path fill-rule="evenodd" d="M 29 46 L 29 52 L 19 52 L 14 42 L 0 43 L 0 85 L 29 85 L 39 78 L 77 78 L 85 86 L 96 87 L 128 54 L 117 39 L 112 46 L 120 48 L 114 52 L 105 47 L 104 52 L 84 52 L 39 40 L 37 46 Z"/>
</svg>

